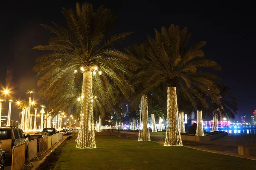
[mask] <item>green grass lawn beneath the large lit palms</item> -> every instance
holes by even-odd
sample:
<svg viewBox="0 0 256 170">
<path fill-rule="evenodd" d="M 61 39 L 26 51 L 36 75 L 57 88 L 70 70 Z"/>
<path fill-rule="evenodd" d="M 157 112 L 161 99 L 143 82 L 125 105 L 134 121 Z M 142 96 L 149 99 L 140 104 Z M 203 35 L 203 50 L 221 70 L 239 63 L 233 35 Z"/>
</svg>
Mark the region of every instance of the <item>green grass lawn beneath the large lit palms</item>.
<svg viewBox="0 0 256 170">
<path fill-rule="evenodd" d="M 117 136 L 96 136 L 96 149 L 67 141 L 54 170 L 256 170 L 256 161 Z"/>
</svg>

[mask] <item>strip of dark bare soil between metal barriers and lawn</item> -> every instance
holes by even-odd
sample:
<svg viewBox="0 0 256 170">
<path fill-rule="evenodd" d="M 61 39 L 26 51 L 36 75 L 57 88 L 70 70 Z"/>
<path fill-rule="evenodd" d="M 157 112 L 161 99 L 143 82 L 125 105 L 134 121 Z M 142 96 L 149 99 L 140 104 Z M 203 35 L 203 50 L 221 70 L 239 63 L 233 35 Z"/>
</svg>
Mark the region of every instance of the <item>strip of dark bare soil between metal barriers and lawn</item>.
<svg viewBox="0 0 256 170">
<path fill-rule="evenodd" d="M 59 156 L 61 155 L 63 147 L 65 147 L 67 141 L 70 140 L 71 138 L 72 136 L 68 136 L 67 139 L 54 150 L 54 152 L 52 152 L 49 156 L 46 157 L 44 163 L 37 167 L 36 170 L 53 170 L 56 162 L 59 159 Z"/>
</svg>

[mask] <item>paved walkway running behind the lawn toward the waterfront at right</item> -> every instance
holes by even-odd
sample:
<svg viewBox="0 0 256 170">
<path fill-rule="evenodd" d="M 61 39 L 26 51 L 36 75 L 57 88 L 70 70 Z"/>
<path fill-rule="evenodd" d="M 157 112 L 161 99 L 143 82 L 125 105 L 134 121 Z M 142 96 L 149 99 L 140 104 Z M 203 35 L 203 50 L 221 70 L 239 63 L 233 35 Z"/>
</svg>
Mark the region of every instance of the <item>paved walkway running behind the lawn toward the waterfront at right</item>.
<svg viewBox="0 0 256 170">
<path fill-rule="evenodd" d="M 112 133 L 118 136 L 124 133 Z M 155 135 L 150 133 L 151 141 L 164 141 L 164 133 Z M 138 139 L 138 135 L 125 134 L 129 138 Z M 202 150 L 217 150 L 224 153 L 238 154 L 238 146 L 249 146 L 250 156 L 256 158 L 256 134 L 233 134 L 215 139 L 209 142 L 194 142 L 183 140 L 183 145 L 188 147 L 195 147 Z"/>
</svg>

